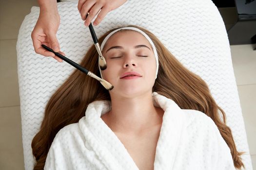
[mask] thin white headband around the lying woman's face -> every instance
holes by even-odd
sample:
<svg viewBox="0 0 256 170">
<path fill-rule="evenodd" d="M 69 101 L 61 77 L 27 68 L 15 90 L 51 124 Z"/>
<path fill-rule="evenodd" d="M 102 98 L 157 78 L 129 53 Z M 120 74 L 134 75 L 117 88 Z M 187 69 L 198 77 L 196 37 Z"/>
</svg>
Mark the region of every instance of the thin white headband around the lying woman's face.
<svg viewBox="0 0 256 170">
<path fill-rule="evenodd" d="M 140 29 L 135 28 L 135 27 L 123 27 L 123 28 L 119 28 L 119 29 L 117 29 L 117 30 L 114 30 L 113 32 L 111 32 L 110 34 L 108 34 L 108 35 L 105 37 L 105 39 L 102 41 L 102 43 L 101 43 L 101 45 L 100 45 L 100 50 L 102 51 L 102 49 L 103 49 L 105 43 L 107 42 L 108 38 L 109 38 L 111 35 L 113 35 L 114 33 L 118 32 L 119 30 L 123 30 L 123 29 L 124 29 L 124 30 L 134 30 L 134 31 L 137 31 L 137 32 L 141 33 L 142 35 L 144 35 L 144 36 L 147 38 L 147 40 L 149 41 L 150 45 L 152 46 L 152 49 L 153 49 L 153 52 L 154 52 L 154 55 L 155 55 L 155 58 L 156 58 L 156 63 L 157 63 L 156 79 L 157 79 L 157 77 L 158 77 L 158 53 L 157 53 L 157 49 L 156 49 L 156 47 L 155 47 L 153 41 L 150 39 L 150 37 L 149 37 L 146 33 L 144 33 L 143 31 L 141 31 Z M 100 69 L 100 67 L 99 67 L 99 64 L 98 64 L 98 69 L 99 69 L 99 72 L 100 72 L 100 76 L 101 76 L 101 78 L 102 78 L 102 73 L 101 73 L 101 69 Z"/>
</svg>

